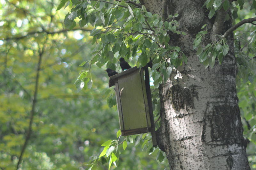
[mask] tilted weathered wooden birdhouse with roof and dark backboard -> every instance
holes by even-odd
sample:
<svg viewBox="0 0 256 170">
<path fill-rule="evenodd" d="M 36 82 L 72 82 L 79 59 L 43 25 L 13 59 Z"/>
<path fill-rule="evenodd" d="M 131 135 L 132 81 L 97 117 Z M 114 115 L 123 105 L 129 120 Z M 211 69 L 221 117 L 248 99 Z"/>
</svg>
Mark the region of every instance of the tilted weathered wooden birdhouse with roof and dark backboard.
<svg viewBox="0 0 256 170">
<path fill-rule="evenodd" d="M 145 69 L 145 72 L 148 68 Z M 109 87 L 115 85 L 119 124 L 123 136 L 151 132 L 156 146 L 156 132 L 148 74 L 133 67 L 109 78 Z"/>
</svg>

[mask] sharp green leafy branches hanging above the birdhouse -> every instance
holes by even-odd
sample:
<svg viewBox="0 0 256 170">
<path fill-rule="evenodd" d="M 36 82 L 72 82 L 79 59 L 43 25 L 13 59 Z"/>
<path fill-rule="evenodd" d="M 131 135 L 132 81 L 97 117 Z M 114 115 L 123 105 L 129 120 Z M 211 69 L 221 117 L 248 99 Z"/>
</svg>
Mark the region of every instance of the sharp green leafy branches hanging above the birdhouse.
<svg viewBox="0 0 256 170">
<path fill-rule="evenodd" d="M 92 53 L 92 60 L 87 61 L 101 68 L 116 70 L 116 57 L 133 58 L 137 67 L 144 67 L 151 60 L 155 66 L 152 74 L 155 87 L 167 80 L 173 67 L 178 67 L 187 58 L 179 47 L 169 45 L 168 32 L 181 34 L 179 23 L 175 20 L 178 14 L 170 15 L 163 20 L 157 14 L 146 11 L 145 6 L 125 1 L 68 1 L 71 10 L 67 13 L 64 24 L 68 29 L 78 22 L 81 27 L 91 24 L 93 43 L 97 47 Z M 71 5 L 72 4 L 72 5 Z M 65 5 L 61 1 L 58 9 Z M 185 34 L 185 33 L 183 33 Z M 161 70 L 158 70 L 161 68 Z M 80 72 L 76 81 L 78 90 L 89 81 L 89 70 Z M 162 76 L 160 76 L 160 72 Z M 82 86 L 81 86 L 82 84 Z"/>
</svg>

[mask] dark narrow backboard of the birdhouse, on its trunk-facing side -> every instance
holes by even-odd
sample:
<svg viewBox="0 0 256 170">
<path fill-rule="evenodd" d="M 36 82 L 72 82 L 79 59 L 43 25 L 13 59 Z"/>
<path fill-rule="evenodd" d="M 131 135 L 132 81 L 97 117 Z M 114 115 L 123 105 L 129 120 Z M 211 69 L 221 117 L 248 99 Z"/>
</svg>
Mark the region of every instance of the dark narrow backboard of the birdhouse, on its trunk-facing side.
<svg viewBox="0 0 256 170">
<path fill-rule="evenodd" d="M 150 85 L 149 85 L 148 64 L 144 67 L 144 71 L 145 71 L 145 85 L 146 85 L 147 98 L 148 98 L 149 116 L 150 116 L 150 122 L 151 122 L 152 143 L 153 143 L 153 146 L 157 146 L 153 106 L 151 101 L 151 91 L 150 91 Z"/>
</svg>

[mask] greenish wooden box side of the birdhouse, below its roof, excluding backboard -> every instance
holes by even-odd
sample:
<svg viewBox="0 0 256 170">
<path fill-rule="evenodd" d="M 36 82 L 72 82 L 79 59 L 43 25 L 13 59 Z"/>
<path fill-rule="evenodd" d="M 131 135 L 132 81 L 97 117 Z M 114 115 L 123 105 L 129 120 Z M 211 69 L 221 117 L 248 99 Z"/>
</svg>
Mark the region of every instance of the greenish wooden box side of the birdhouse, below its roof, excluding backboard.
<svg viewBox="0 0 256 170">
<path fill-rule="evenodd" d="M 115 79 L 116 100 L 122 135 L 145 133 L 150 130 L 148 100 L 143 69 Z"/>
</svg>

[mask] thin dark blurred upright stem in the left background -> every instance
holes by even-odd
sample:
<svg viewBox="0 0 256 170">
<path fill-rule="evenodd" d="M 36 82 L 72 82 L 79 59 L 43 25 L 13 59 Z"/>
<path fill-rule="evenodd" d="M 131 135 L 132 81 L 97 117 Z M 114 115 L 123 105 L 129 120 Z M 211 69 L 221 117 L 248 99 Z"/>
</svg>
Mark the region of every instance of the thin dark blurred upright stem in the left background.
<svg viewBox="0 0 256 170">
<path fill-rule="evenodd" d="M 20 157 L 19 157 L 19 161 L 17 163 L 16 170 L 18 170 L 18 168 L 19 168 L 19 164 L 20 164 L 20 162 L 22 160 L 23 153 L 24 153 L 24 151 L 25 151 L 25 149 L 27 147 L 29 138 L 30 138 L 31 133 L 32 133 L 32 123 L 33 123 L 33 118 L 34 118 L 34 115 L 35 115 L 36 98 L 37 98 L 37 91 L 38 91 L 39 72 L 40 72 L 42 56 L 43 56 L 43 53 L 44 53 L 44 49 L 43 48 L 42 48 L 41 52 L 39 51 L 39 59 L 38 59 L 38 66 L 37 66 L 37 72 L 36 72 L 36 85 L 35 85 L 34 98 L 32 100 L 32 109 L 31 109 L 31 112 L 30 112 L 30 121 L 29 121 L 28 132 L 27 132 L 27 136 L 26 136 L 26 139 L 25 139 L 25 143 L 23 144 L 21 152 L 20 152 Z"/>
</svg>

